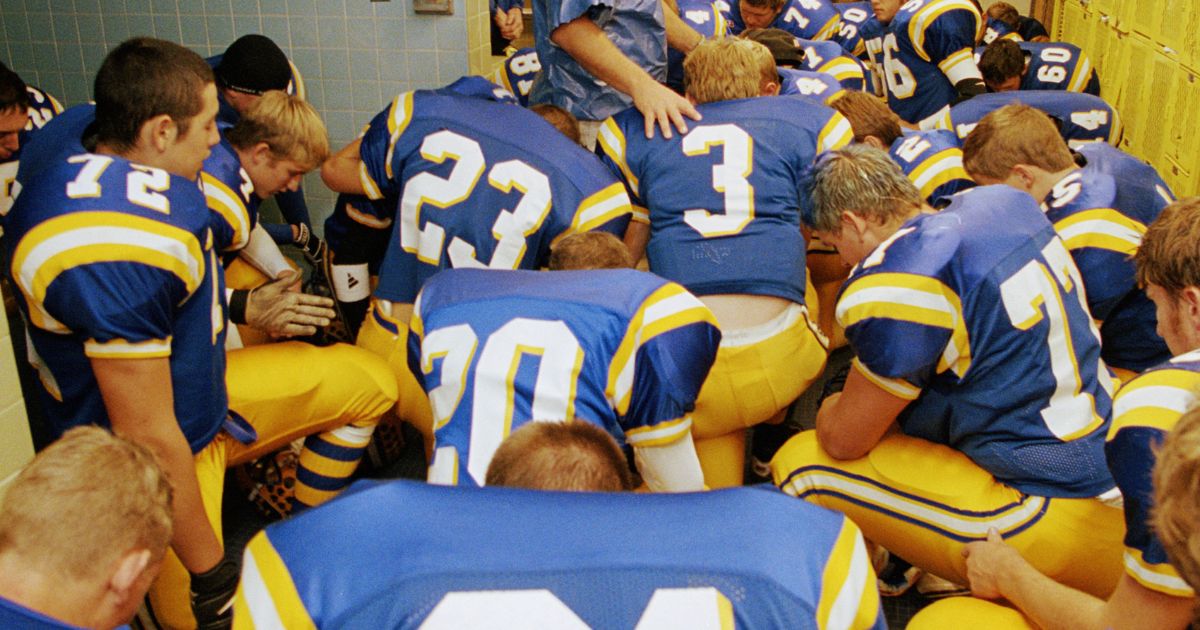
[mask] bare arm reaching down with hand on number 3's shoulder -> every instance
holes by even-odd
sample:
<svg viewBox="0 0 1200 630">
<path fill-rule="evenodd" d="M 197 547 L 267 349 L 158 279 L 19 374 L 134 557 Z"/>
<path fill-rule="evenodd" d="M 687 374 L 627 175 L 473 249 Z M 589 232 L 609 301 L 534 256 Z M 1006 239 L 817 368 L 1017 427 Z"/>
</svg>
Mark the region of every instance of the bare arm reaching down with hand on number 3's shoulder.
<svg viewBox="0 0 1200 630">
<path fill-rule="evenodd" d="M 676 19 L 679 19 L 678 16 Z M 655 124 L 662 130 L 664 137 L 671 138 L 672 124 L 679 133 L 688 133 L 688 124 L 683 118 L 700 120 L 700 112 L 686 98 L 659 84 L 630 61 L 587 16 L 558 26 L 550 34 L 550 40 L 566 50 L 583 70 L 634 100 L 634 107 L 646 116 L 647 138 L 654 137 Z M 324 173 L 322 169 L 323 176 Z M 329 180 L 325 182 L 334 188 Z"/>
</svg>

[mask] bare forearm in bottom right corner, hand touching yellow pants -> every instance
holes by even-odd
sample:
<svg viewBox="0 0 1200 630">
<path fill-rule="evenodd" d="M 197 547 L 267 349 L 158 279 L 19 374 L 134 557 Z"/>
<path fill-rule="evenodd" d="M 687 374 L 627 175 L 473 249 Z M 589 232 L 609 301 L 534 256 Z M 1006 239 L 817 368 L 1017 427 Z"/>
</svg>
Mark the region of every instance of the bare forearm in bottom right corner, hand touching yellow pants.
<svg viewBox="0 0 1200 630">
<path fill-rule="evenodd" d="M 988 540 L 962 550 L 971 592 L 985 599 L 1004 598 L 1046 630 L 1183 629 L 1192 620 L 1194 598 L 1172 598 L 1121 576 L 1104 601 L 1042 575 L 1008 546 L 996 530 Z"/>
</svg>

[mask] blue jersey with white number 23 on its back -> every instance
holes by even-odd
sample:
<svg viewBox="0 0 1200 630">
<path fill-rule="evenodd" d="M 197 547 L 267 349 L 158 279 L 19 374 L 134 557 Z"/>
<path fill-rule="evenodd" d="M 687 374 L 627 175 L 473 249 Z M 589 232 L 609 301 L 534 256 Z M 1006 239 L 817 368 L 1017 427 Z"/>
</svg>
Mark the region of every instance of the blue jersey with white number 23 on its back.
<svg viewBox="0 0 1200 630">
<path fill-rule="evenodd" d="M 629 223 L 629 196 L 604 164 L 521 107 L 404 92 L 371 121 L 360 155 L 367 197 L 400 199 L 384 300 L 410 304 L 451 266 L 538 269 L 557 239 Z"/>
</svg>

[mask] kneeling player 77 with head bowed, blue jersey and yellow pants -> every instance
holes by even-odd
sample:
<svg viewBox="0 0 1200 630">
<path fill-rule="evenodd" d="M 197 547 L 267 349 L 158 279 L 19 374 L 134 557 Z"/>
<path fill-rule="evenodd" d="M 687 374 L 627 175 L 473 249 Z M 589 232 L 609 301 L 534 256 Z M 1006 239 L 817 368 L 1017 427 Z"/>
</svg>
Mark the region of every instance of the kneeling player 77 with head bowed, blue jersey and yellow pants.
<svg viewBox="0 0 1200 630">
<path fill-rule="evenodd" d="M 1122 533 L 1104 461 L 1112 382 L 1038 204 L 982 186 L 935 212 L 865 145 L 820 157 L 805 192 L 805 223 L 854 265 L 838 322 L 856 356 L 816 431 L 775 455 L 775 482 L 958 583 L 962 547 L 996 529 L 1057 580 L 1109 593 Z"/>
</svg>

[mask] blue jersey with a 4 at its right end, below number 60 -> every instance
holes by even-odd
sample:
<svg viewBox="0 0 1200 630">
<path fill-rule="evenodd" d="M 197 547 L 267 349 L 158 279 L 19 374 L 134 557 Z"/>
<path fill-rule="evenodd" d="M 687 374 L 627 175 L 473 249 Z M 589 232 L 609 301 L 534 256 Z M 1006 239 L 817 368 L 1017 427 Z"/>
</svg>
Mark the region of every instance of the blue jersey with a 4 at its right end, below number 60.
<svg viewBox="0 0 1200 630">
<path fill-rule="evenodd" d="M 946 112 L 937 127 L 953 130 L 964 139 L 983 116 L 1007 104 L 1024 103 L 1040 109 L 1058 122 L 1058 133 L 1073 149 L 1085 143 L 1121 142 L 1121 116 L 1099 96 L 1062 90 L 1016 90 L 980 94 Z"/>
</svg>

